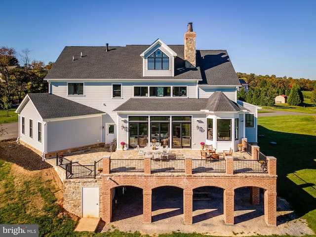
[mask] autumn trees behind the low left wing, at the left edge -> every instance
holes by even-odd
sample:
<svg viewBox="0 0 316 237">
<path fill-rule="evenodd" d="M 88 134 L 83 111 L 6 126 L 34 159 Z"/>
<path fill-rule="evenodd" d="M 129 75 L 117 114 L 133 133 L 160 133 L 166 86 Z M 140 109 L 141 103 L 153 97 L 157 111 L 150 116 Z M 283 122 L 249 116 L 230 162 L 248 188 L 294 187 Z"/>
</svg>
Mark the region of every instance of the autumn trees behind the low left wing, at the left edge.
<svg viewBox="0 0 316 237">
<path fill-rule="evenodd" d="M 43 79 L 53 63 L 45 65 L 42 61 L 31 60 L 30 52 L 22 50 L 19 62 L 14 48 L 0 47 L 0 106 L 3 109 L 20 103 L 27 93 L 48 91 L 47 81 Z"/>
</svg>

